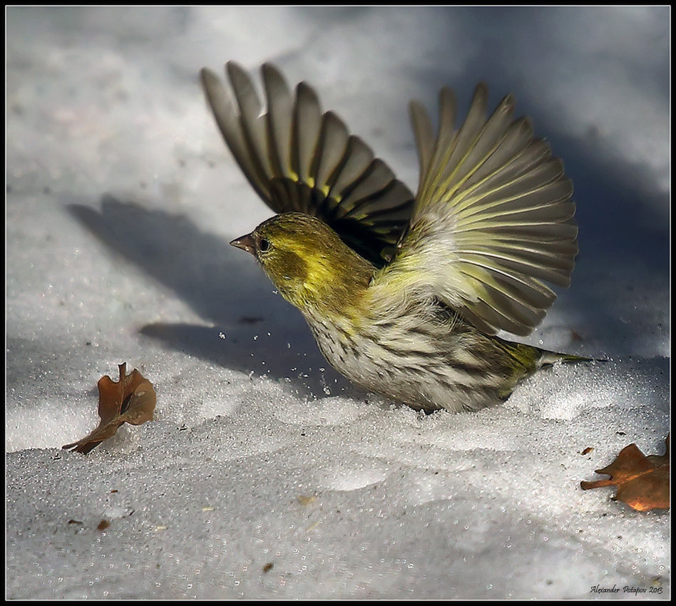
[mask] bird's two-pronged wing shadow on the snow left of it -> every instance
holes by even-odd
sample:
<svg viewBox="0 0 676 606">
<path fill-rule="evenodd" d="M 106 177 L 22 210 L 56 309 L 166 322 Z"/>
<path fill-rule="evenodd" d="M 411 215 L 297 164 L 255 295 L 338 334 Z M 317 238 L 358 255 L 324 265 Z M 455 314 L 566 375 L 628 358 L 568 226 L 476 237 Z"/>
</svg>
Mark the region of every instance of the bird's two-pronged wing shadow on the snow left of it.
<svg viewBox="0 0 676 606">
<path fill-rule="evenodd" d="M 331 369 L 301 315 L 273 292 L 254 260 L 188 217 L 101 199 L 68 212 L 108 249 L 173 290 L 211 326 L 148 324 L 140 334 L 224 368 L 290 380 L 301 393 L 337 395 L 349 382 Z"/>
</svg>

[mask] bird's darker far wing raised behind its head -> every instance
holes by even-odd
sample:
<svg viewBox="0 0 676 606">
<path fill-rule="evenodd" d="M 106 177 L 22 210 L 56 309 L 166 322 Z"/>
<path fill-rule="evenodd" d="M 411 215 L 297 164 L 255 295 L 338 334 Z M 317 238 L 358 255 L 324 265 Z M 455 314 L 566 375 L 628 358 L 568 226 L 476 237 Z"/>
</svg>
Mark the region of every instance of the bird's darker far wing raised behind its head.
<svg viewBox="0 0 676 606">
<path fill-rule="evenodd" d="M 201 80 L 225 143 L 275 212 L 305 212 L 327 222 L 347 245 L 384 265 L 409 223 L 413 193 L 334 113 L 322 113 L 306 83 L 292 95 L 281 73 L 261 68 L 266 113 L 247 73 L 225 66 L 230 93 L 207 68 Z"/>
</svg>

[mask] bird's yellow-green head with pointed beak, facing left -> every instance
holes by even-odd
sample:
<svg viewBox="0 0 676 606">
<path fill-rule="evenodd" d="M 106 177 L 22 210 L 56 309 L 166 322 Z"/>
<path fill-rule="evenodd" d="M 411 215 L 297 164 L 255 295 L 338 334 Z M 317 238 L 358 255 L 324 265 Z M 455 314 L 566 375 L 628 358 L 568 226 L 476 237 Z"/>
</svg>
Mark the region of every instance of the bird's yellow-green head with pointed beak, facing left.
<svg viewBox="0 0 676 606">
<path fill-rule="evenodd" d="M 282 297 L 306 315 L 330 317 L 354 306 L 375 271 L 326 223 L 301 212 L 276 215 L 230 244 L 256 257 Z"/>
</svg>

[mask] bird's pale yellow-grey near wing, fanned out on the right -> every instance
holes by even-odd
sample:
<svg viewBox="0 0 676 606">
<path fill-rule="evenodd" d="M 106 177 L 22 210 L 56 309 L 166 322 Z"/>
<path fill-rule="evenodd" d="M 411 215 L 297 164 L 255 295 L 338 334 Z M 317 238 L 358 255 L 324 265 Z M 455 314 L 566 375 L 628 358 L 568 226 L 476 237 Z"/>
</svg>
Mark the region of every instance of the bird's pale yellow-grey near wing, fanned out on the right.
<svg viewBox="0 0 676 606">
<path fill-rule="evenodd" d="M 487 334 L 530 334 L 568 287 L 578 253 L 573 186 L 528 118 L 507 96 L 486 118 L 476 87 L 455 129 L 456 100 L 444 88 L 439 132 L 411 103 L 420 183 L 408 232 L 379 279 L 441 299 Z"/>
</svg>

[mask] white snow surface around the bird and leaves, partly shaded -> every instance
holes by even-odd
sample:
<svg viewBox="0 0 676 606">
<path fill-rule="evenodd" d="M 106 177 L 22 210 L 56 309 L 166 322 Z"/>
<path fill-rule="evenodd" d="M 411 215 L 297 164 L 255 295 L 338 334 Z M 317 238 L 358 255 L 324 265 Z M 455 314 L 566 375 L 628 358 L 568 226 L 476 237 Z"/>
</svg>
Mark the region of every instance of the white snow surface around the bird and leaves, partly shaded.
<svg viewBox="0 0 676 606">
<path fill-rule="evenodd" d="M 579 483 L 630 443 L 662 453 L 670 426 L 670 9 L 6 17 L 6 597 L 669 597 L 669 513 Z M 198 86 L 228 59 L 307 79 L 411 188 L 410 98 L 516 93 L 580 224 L 531 342 L 610 361 L 477 414 L 341 379 L 227 244 L 271 215 Z M 123 361 L 156 421 L 61 451 Z"/>
</svg>

